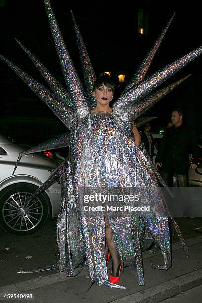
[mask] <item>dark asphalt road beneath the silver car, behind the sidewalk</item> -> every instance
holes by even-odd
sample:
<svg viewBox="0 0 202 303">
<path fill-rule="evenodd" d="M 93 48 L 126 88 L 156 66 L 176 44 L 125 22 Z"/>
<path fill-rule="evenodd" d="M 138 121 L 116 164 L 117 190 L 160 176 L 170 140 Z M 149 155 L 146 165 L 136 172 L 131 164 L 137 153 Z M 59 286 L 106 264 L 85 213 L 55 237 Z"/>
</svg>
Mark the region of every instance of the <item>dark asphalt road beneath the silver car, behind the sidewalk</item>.
<svg viewBox="0 0 202 303">
<path fill-rule="evenodd" d="M 176 218 L 185 239 L 199 236 L 196 227 L 202 227 L 202 217 Z M 172 228 L 172 243 L 179 238 Z M 31 258 L 26 258 L 31 256 Z M 59 259 L 56 245 L 56 220 L 49 220 L 37 233 L 28 236 L 13 236 L 0 229 L 0 287 L 50 275 L 56 270 L 37 273 L 17 273 L 55 264 Z"/>
</svg>

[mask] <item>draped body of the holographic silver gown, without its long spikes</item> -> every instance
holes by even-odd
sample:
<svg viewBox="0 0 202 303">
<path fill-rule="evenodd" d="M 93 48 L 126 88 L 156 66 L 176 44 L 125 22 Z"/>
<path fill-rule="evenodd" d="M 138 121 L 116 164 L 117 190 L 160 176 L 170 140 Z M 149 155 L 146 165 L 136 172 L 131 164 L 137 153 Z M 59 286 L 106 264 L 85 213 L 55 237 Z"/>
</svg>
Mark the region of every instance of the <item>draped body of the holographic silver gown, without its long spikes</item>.
<svg viewBox="0 0 202 303">
<path fill-rule="evenodd" d="M 63 255 L 60 267 L 66 269 L 68 275 L 75 275 L 74 267 L 86 256 L 92 282 L 120 287 L 108 282 L 104 212 L 85 213 L 79 190 L 87 187 L 92 193 L 95 189 L 103 193 L 114 189 L 117 193 L 118 189 L 120 193 L 129 187 L 144 197 L 144 202 L 138 203 L 138 206 L 150 206 L 150 211 L 137 214 L 134 211 L 109 210 L 107 215 L 124 265 L 137 265 L 139 284 L 144 285 L 141 240 L 142 249 L 148 248 L 152 239 L 161 248 L 165 264 L 153 265 L 155 268 L 167 269 L 171 265 L 169 214 L 152 162 L 143 148 L 135 146 L 130 116 L 122 123 L 122 129 L 117 121 L 120 123 L 112 111 L 89 113 L 81 124 L 76 120 L 71 124 L 68 184 L 65 184 L 66 209 L 62 207 L 57 224 L 58 231 L 61 226 L 67 226 L 58 237 Z M 160 178 L 158 174 L 157 177 Z M 97 202 L 97 205 L 101 204 Z M 118 203 L 119 206 L 124 204 Z M 68 243 L 66 256 L 64 243 Z"/>
</svg>

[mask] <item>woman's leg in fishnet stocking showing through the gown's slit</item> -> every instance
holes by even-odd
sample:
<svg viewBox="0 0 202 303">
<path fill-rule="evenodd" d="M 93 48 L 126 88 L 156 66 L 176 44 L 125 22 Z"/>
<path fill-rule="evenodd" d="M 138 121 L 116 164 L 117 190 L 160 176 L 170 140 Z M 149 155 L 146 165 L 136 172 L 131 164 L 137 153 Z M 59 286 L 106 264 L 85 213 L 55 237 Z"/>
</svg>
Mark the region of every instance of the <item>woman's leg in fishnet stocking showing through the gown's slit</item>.
<svg viewBox="0 0 202 303">
<path fill-rule="evenodd" d="M 116 249 L 116 245 L 114 243 L 112 230 L 111 230 L 111 227 L 110 227 L 110 224 L 109 224 L 109 220 L 108 220 L 108 216 L 107 216 L 106 212 L 105 212 L 105 226 L 106 226 L 106 244 L 107 244 L 108 250 L 111 253 L 112 264 L 113 264 L 113 267 L 112 267 L 112 276 L 116 277 L 117 270 L 119 268 L 120 260 L 121 259 L 119 257 L 118 251 Z M 119 274 L 119 270 L 118 270 L 118 274 Z"/>
</svg>

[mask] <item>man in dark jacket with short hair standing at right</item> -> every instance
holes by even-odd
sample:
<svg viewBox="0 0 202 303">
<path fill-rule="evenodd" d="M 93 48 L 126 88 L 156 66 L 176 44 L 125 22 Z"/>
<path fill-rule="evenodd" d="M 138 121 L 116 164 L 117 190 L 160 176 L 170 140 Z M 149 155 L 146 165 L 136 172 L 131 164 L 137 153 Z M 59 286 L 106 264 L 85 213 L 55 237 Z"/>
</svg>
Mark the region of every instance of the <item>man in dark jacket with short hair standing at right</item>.
<svg viewBox="0 0 202 303">
<path fill-rule="evenodd" d="M 162 166 L 163 179 L 168 186 L 173 186 L 173 176 L 177 177 L 180 187 L 188 186 L 189 153 L 193 154 L 191 169 L 198 164 L 197 136 L 191 128 L 183 124 L 181 109 L 174 109 L 171 120 L 174 124 L 166 129 L 156 155 L 155 167 Z"/>
</svg>

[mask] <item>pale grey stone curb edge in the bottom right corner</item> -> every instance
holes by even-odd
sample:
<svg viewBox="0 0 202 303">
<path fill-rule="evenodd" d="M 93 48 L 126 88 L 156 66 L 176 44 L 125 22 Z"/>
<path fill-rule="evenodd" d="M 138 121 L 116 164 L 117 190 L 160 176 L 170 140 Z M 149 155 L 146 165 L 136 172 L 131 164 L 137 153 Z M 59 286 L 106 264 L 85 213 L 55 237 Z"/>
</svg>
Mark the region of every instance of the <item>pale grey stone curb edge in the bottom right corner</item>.
<svg viewBox="0 0 202 303">
<path fill-rule="evenodd" d="M 154 303 L 202 284 L 202 268 L 110 303 Z"/>
</svg>

